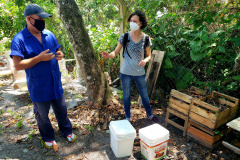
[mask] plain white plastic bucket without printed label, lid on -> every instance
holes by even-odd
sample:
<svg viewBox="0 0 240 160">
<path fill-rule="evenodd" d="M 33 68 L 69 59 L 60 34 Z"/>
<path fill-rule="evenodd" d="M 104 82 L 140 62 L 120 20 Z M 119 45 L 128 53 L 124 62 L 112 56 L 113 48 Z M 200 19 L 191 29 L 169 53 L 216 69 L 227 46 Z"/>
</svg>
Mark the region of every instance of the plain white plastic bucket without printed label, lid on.
<svg viewBox="0 0 240 160">
<path fill-rule="evenodd" d="M 109 125 L 111 148 L 117 158 L 132 155 L 136 130 L 128 120 L 111 121 Z"/>
</svg>

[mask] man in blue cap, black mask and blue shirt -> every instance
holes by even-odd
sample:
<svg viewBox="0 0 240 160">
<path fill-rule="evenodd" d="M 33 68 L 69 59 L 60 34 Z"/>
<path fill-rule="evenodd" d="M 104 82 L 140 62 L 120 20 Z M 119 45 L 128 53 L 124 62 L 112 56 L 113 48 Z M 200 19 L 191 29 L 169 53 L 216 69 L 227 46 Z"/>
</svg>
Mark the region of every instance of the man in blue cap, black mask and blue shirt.
<svg viewBox="0 0 240 160">
<path fill-rule="evenodd" d="M 40 135 L 47 148 L 57 148 L 54 130 L 48 118 L 52 106 L 59 129 L 69 142 L 76 139 L 67 116 L 67 106 L 63 96 L 61 73 L 58 61 L 63 58 L 56 37 L 44 29 L 44 18 L 52 15 L 36 4 L 25 8 L 27 25 L 17 33 L 11 43 L 11 54 L 16 70 L 25 70 L 30 98 L 34 104 L 34 114 Z"/>
</svg>

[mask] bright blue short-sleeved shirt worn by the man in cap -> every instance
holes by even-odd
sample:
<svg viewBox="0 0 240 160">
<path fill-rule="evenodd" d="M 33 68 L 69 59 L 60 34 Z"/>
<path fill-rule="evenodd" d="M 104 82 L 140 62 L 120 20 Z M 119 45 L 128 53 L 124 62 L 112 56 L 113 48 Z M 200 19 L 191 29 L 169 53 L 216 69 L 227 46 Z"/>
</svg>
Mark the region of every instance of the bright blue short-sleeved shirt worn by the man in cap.
<svg viewBox="0 0 240 160">
<path fill-rule="evenodd" d="M 42 44 L 27 30 L 26 25 L 22 31 L 14 36 L 10 56 L 29 59 L 47 49 L 56 54 L 56 51 L 61 46 L 58 44 L 54 34 L 46 29 L 41 34 Z M 61 73 L 58 61 L 55 58 L 50 61 L 39 62 L 26 69 L 25 72 L 28 91 L 33 102 L 45 102 L 62 97 Z"/>
</svg>

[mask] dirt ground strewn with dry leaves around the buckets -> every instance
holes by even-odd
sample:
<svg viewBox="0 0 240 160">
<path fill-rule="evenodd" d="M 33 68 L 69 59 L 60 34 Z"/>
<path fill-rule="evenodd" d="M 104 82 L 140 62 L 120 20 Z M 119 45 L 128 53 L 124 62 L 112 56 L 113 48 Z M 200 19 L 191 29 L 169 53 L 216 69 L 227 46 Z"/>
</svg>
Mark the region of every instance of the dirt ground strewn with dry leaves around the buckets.
<svg viewBox="0 0 240 160">
<path fill-rule="evenodd" d="M 53 112 L 49 117 L 55 130 L 55 141 L 59 151 L 45 148 L 40 140 L 40 134 L 33 115 L 33 105 L 27 92 L 14 90 L 11 77 L 0 77 L 0 159 L 21 160 L 115 160 L 110 148 L 108 126 L 104 128 L 98 109 L 86 100 L 86 88 L 79 81 L 64 84 L 64 95 L 68 104 L 68 115 L 77 135 L 74 143 L 68 143 L 62 137 Z M 120 100 L 121 101 L 121 100 Z M 123 107 L 107 106 L 111 120 L 124 119 Z M 164 125 L 166 106 L 152 103 L 153 113 Z M 137 133 L 140 128 L 153 124 L 145 116 L 144 108 L 132 106 L 131 124 Z M 170 139 L 165 159 L 182 160 L 239 160 L 240 156 L 220 146 L 212 152 L 194 140 L 188 141 L 182 136 L 182 131 L 168 125 Z M 138 134 L 137 134 L 138 135 Z M 132 156 L 119 160 L 141 160 L 141 149 L 138 136 L 135 138 Z"/>
</svg>

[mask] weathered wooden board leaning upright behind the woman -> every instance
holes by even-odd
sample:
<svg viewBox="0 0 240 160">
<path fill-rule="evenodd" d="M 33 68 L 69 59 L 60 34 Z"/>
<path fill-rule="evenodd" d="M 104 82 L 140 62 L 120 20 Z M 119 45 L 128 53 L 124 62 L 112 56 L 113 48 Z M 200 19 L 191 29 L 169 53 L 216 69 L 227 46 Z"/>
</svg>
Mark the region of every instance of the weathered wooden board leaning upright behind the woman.
<svg viewBox="0 0 240 160">
<path fill-rule="evenodd" d="M 165 55 L 165 51 L 152 51 L 152 58 L 149 62 L 148 69 L 146 72 L 146 79 L 147 79 L 147 91 L 149 99 L 151 98 L 153 89 L 157 83 L 157 78 L 159 75 L 159 71 L 162 65 L 162 61 Z M 142 105 L 142 99 L 138 97 L 138 106 Z"/>
</svg>

